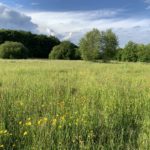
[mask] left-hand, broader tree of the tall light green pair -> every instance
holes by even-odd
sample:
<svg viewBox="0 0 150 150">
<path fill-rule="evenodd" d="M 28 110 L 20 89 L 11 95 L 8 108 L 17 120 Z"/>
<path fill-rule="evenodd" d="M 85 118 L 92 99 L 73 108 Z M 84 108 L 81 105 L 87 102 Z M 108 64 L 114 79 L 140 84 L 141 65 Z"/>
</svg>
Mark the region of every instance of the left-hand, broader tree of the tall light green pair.
<svg viewBox="0 0 150 150">
<path fill-rule="evenodd" d="M 93 29 L 80 40 L 80 52 L 83 60 L 97 60 L 100 54 L 100 32 Z"/>
</svg>

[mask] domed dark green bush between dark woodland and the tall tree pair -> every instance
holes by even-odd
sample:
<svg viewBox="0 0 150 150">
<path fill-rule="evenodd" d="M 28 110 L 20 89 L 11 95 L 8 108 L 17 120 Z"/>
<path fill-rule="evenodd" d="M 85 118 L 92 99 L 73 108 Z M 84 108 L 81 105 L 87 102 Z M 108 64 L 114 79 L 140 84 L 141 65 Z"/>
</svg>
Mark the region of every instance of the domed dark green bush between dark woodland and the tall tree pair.
<svg viewBox="0 0 150 150">
<path fill-rule="evenodd" d="M 79 53 L 77 51 L 77 46 L 69 41 L 63 41 L 60 45 L 53 48 L 49 54 L 50 59 L 66 59 L 75 60 L 79 58 Z"/>
</svg>

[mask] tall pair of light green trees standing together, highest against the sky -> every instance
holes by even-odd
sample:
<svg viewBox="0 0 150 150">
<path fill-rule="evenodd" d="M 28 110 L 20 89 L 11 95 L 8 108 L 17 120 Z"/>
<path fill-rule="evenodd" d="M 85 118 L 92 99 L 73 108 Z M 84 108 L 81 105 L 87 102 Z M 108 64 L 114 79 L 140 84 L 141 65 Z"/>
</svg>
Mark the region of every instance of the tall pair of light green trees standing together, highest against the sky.
<svg viewBox="0 0 150 150">
<path fill-rule="evenodd" d="M 114 59 L 117 46 L 117 36 L 111 29 L 102 32 L 93 29 L 80 41 L 81 56 L 84 60 L 102 58 L 104 61 L 107 61 Z"/>
</svg>

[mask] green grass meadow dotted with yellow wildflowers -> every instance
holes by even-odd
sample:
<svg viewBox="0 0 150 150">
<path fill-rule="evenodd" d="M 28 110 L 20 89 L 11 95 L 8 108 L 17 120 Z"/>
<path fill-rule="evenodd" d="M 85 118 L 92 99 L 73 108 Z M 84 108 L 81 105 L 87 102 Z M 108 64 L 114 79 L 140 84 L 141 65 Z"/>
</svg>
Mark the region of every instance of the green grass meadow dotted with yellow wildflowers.
<svg viewBox="0 0 150 150">
<path fill-rule="evenodd" d="M 0 60 L 0 150 L 149 150 L 150 64 Z"/>
</svg>

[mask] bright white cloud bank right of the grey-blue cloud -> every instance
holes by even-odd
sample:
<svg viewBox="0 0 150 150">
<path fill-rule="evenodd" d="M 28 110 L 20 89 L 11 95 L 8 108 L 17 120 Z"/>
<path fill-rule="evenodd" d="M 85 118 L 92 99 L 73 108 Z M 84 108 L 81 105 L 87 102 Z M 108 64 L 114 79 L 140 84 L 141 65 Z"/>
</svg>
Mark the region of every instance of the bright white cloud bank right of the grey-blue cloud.
<svg viewBox="0 0 150 150">
<path fill-rule="evenodd" d="M 38 24 L 39 33 L 51 34 L 61 40 L 75 43 L 92 28 L 112 28 L 123 46 L 129 40 L 148 43 L 150 20 L 148 18 L 121 18 L 120 10 L 74 11 L 74 12 L 30 12 L 32 21 Z"/>
</svg>

